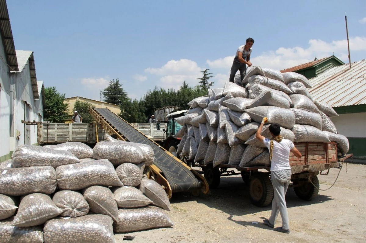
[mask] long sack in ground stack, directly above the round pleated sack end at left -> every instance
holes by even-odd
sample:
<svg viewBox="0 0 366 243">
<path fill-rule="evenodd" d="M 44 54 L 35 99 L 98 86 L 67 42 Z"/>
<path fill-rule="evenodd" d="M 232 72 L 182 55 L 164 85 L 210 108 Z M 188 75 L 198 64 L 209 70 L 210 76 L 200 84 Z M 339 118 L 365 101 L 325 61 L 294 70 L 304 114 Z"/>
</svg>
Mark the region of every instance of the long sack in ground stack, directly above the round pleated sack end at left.
<svg viewBox="0 0 366 243">
<path fill-rule="evenodd" d="M 123 186 L 108 159 L 61 165 L 56 168 L 56 174 L 61 190 L 81 190 L 93 185 Z"/>
</svg>

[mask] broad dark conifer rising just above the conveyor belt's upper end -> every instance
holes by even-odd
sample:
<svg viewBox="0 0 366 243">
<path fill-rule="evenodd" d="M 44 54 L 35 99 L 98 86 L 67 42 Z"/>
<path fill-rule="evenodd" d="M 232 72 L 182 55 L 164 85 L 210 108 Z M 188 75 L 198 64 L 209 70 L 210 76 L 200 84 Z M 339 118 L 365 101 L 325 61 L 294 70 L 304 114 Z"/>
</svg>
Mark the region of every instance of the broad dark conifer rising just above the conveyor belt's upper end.
<svg viewBox="0 0 366 243">
<path fill-rule="evenodd" d="M 107 88 L 103 89 L 102 95 L 104 97 L 104 102 L 122 105 L 128 100 L 127 92 L 124 91 L 122 84 L 120 84 L 119 81 L 118 78 L 112 79 Z"/>
</svg>

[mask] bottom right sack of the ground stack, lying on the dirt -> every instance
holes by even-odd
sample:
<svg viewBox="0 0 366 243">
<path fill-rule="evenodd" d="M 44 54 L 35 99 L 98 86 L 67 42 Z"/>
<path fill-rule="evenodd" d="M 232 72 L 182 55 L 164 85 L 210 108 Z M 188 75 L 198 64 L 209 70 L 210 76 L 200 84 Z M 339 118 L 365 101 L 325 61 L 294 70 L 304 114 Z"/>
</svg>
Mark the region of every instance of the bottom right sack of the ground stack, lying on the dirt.
<svg viewBox="0 0 366 243">
<path fill-rule="evenodd" d="M 164 210 L 154 206 L 122 208 L 118 210 L 118 217 L 119 222 L 113 225 L 115 233 L 173 226 L 173 222 Z"/>
</svg>

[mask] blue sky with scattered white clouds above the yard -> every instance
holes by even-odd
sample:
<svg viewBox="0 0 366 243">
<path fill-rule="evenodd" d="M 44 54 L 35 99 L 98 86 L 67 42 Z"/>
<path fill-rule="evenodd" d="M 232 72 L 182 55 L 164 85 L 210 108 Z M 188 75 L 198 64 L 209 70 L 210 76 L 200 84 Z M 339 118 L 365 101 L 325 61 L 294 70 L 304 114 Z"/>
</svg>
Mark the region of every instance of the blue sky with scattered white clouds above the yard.
<svg viewBox="0 0 366 243">
<path fill-rule="evenodd" d="M 131 98 L 154 86 L 228 81 L 233 56 L 255 40 L 253 65 L 285 69 L 334 54 L 366 58 L 366 1 L 8 0 L 17 50 L 34 51 L 37 79 L 66 97 L 99 100 L 119 78 Z"/>
</svg>

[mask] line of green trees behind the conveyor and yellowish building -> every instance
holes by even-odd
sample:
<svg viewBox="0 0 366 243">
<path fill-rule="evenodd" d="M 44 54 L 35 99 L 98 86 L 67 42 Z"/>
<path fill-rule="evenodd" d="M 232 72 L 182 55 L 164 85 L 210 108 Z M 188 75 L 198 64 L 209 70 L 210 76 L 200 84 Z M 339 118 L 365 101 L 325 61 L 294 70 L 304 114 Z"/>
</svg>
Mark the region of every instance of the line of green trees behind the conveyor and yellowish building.
<svg viewBox="0 0 366 243">
<path fill-rule="evenodd" d="M 178 90 L 156 86 L 153 90 L 148 90 L 141 99 L 130 99 L 120 80 L 112 79 L 102 91 L 103 101 L 119 105 L 121 109 L 119 116 L 129 123 L 146 123 L 158 108 L 177 106 L 181 107 L 180 109 L 188 109 L 189 101 L 207 95 L 208 89 L 214 84 L 209 82 L 213 76 L 210 76 L 209 69 L 201 72 L 202 77 L 198 78 L 200 81 L 197 86 L 189 86 L 185 80 Z M 63 123 L 71 119 L 67 114 L 68 104 L 63 102 L 64 99 L 65 94 L 57 92 L 56 87 L 45 88 L 44 121 Z M 83 122 L 90 123 L 93 122 L 93 117 L 89 114 L 90 106 L 93 107 L 90 103 L 76 101 L 73 111 L 78 111 L 83 117 Z"/>
</svg>

